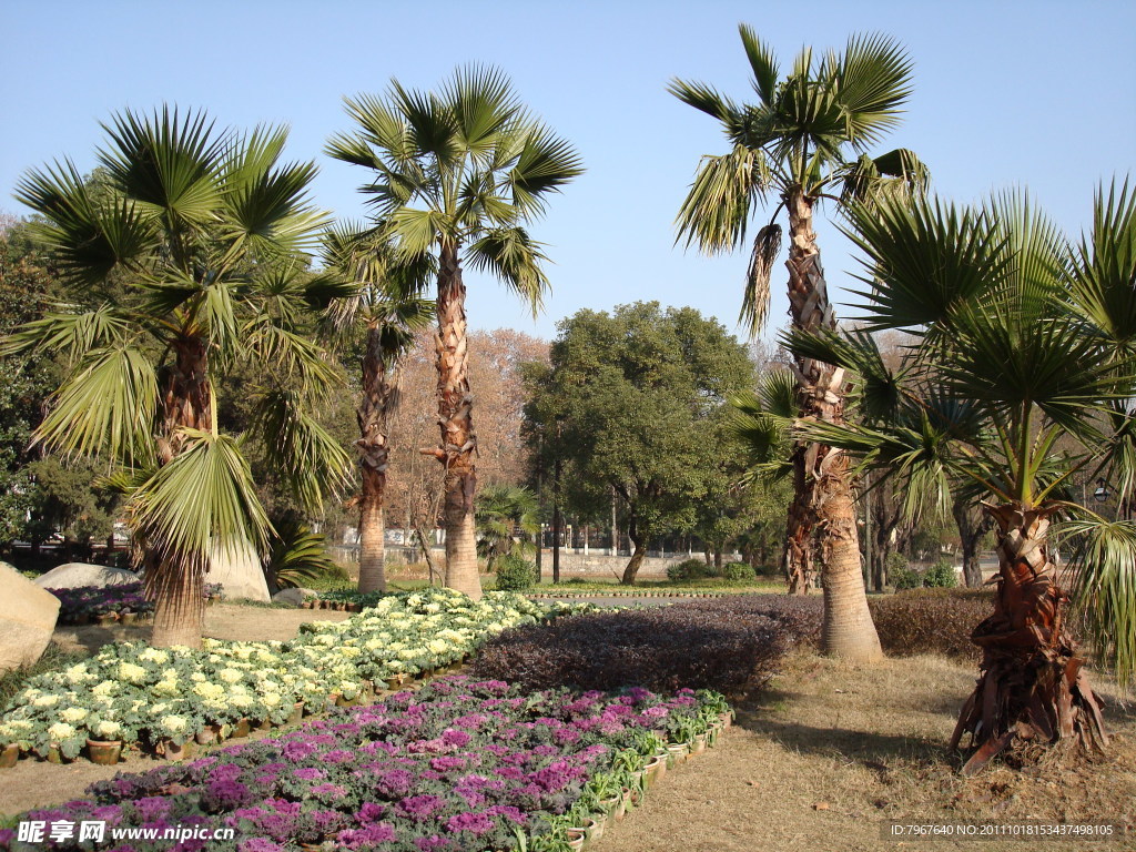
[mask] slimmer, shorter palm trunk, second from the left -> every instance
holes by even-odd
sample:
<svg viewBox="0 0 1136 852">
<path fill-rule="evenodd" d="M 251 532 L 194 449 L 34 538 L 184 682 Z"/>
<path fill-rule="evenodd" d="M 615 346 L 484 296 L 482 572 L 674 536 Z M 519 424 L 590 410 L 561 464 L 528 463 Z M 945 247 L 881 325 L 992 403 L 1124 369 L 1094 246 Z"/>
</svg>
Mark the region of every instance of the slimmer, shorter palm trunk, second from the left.
<svg viewBox="0 0 1136 852">
<path fill-rule="evenodd" d="M 383 499 L 386 491 L 386 468 L 390 448 L 386 440 L 387 407 L 392 385 L 386 381 L 386 362 L 379 328 L 367 329 L 367 351 L 362 360 L 362 402 L 356 417 L 359 421 L 359 468 L 362 500 L 359 511 L 359 591 L 385 592 L 386 573 Z"/>
</svg>

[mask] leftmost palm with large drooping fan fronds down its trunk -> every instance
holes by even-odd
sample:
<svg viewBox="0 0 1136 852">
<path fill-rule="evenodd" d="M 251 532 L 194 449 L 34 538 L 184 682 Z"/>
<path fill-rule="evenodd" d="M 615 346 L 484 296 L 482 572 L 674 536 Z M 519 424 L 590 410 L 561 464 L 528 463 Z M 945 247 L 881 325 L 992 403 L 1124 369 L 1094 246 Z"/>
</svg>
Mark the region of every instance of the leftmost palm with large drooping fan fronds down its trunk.
<svg viewBox="0 0 1136 852">
<path fill-rule="evenodd" d="M 35 440 L 111 471 L 144 552 L 154 644 L 200 646 L 211 554 L 262 550 L 269 528 L 242 441 L 217 431 L 218 368 L 252 359 L 292 377 L 264 393 L 257 431 L 306 504 L 345 470 L 310 410 L 314 389 L 339 378 L 304 333 L 339 294 L 303 272 L 326 217 L 307 200 L 315 166 L 279 162 L 283 130 L 217 132 L 204 114 L 168 108 L 105 130 L 98 182 L 65 161 L 19 183 L 74 306 L 5 349 L 68 359 Z"/>
</svg>

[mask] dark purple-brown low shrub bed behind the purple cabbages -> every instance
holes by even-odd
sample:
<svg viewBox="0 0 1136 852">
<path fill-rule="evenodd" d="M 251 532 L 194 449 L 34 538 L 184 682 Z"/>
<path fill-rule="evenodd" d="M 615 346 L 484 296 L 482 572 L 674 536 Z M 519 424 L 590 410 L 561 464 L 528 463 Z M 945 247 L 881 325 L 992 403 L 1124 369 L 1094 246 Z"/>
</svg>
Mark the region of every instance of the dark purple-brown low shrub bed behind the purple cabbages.
<svg viewBox="0 0 1136 852">
<path fill-rule="evenodd" d="M 765 682 L 794 643 L 810 641 L 819 615 L 812 602 L 772 595 L 596 612 L 510 630 L 486 644 L 473 671 L 533 690 L 563 684 L 728 693 Z"/>
</svg>

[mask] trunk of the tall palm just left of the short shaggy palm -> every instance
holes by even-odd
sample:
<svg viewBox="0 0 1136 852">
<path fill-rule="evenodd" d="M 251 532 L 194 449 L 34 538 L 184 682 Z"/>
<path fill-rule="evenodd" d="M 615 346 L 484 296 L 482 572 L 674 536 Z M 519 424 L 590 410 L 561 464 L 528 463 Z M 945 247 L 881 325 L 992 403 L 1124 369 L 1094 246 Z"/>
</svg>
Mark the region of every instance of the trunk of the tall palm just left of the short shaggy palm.
<svg viewBox="0 0 1136 852">
<path fill-rule="evenodd" d="M 820 250 L 812 229 L 812 200 L 800 189 L 785 199 L 790 215 L 788 300 L 793 325 L 809 332 L 835 328 Z M 844 371 L 811 358 L 795 365 L 801 416 L 844 423 Z M 879 659 L 883 651 L 868 611 L 860 569 L 851 474 L 843 451 L 824 444 L 800 444 L 793 453 L 796 492 L 788 513 L 790 569 L 801 571 L 812 543 L 825 584 L 821 651 L 859 661 Z M 816 540 L 816 541 L 812 541 Z M 799 560 L 794 562 L 794 560 Z M 791 576 L 793 576 L 791 574 Z M 803 575 L 801 579 L 807 579 Z M 803 590 L 797 590 L 803 593 Z"/>
</svg>

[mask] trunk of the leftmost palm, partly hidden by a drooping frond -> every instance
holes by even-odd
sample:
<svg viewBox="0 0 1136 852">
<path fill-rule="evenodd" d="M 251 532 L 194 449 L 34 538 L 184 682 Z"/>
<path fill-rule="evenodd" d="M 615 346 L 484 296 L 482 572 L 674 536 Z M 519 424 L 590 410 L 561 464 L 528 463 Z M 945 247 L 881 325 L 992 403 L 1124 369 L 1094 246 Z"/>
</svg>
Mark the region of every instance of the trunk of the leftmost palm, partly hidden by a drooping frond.
<svg viewBox="0 0 1136 852">
<path fill-rule="evenodd" d="M 176 357 L 165 376 L 161 398 L 159 465 L 168 465 L 182 451 L 185 445 L 183 428 L 212 431 L 212 391 L 206 345 L 199 337 L 181 339 L 174 344 Z M 208 556 L 172 551 L 151 531 L 139 531 L 139 535 L 145 551 L 145 594 L 153 601 L 151 644 L 201 648 Z"/>
</svg>

